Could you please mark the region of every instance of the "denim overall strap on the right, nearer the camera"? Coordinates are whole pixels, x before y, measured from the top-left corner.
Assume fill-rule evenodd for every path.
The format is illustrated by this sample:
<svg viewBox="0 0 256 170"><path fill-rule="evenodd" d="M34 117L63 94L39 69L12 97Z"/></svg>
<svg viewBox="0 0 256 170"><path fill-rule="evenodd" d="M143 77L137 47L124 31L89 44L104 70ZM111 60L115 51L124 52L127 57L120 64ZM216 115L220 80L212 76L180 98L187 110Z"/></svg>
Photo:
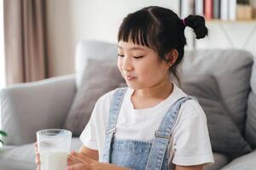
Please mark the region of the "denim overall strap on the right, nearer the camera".
<svg viewBox="0 0 256 170"><path fill-rule="evenodd" d="M166 154L166 149L172 135L174 124L177 120L177 115L180 106L188 99L195 99L192 96L178 99L167 111L163 117L160 127L154 133L154 141L148 156L147 170L160 170Z"/></svg>

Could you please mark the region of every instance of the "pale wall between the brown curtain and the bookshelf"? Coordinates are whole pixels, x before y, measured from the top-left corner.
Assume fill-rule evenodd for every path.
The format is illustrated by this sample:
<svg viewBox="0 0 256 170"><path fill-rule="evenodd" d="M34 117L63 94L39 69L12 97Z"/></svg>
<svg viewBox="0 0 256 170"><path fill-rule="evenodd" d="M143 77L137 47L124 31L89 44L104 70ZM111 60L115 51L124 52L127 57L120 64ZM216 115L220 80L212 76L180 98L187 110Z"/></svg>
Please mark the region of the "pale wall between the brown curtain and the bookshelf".
<svg viewBox="0 0 256 170"><path fill-rule="evenodd" d="M80 40L116 42L126 14L149 5L178 11L177 0L47 0L49 76L74 72L75 46Z"/></svg>

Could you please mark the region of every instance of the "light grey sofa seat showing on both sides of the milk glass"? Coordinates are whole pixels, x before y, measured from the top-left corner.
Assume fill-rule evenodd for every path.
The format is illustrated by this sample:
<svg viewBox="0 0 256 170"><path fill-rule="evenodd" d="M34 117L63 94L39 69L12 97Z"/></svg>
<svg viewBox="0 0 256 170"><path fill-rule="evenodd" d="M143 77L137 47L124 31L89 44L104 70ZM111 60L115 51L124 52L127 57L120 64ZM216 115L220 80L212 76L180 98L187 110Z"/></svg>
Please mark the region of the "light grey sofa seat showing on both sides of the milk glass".
<svg viewBox="0 0 256 170"><path fill-rule="evenodd" d="M71 150L78 151L82 143L79 138L73 138ZM1 170L35 170L34 143L20 146L4 146L0 148Z"/></svg>

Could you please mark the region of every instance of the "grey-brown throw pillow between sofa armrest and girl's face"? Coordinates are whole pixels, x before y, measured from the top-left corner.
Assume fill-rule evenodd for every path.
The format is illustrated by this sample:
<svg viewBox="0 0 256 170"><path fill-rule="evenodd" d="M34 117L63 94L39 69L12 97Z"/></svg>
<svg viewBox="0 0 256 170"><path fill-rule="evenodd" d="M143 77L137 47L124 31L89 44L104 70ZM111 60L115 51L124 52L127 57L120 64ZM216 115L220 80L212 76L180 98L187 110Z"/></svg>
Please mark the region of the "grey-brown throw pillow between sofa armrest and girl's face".
<svg viewBox="0 0 256 170"><path fill-rule="evenodd" d="M78 88L63 127L72 131L73 136L79 136L84 130L96 100L103 94L118 88L125 79L119 72L116 59L89 59L81 81L81 87Z"/></svg>

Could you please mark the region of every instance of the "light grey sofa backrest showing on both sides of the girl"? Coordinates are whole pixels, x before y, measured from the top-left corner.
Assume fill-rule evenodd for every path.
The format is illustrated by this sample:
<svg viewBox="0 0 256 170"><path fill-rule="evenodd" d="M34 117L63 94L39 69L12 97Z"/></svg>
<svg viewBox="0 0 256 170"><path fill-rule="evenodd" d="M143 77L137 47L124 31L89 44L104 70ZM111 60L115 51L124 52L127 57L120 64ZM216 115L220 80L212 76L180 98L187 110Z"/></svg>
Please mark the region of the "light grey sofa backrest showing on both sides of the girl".
<svg viewBox="0 0 256 170"><path fill-rule="evenodd" d="M79 42L75 62L77 87L80 86L87 59L116 59L117 54L117 45L114 43L92 40ZM229 110L237 127L243 132L252 65L253 55L247 51L205 49L185 51L180 69L183 78L197 77L203 74L216 77L224 105ZM255 83L255 80L253 81L251 80L251 84ZM255 85L253 86L255 88Z"/></svg>

